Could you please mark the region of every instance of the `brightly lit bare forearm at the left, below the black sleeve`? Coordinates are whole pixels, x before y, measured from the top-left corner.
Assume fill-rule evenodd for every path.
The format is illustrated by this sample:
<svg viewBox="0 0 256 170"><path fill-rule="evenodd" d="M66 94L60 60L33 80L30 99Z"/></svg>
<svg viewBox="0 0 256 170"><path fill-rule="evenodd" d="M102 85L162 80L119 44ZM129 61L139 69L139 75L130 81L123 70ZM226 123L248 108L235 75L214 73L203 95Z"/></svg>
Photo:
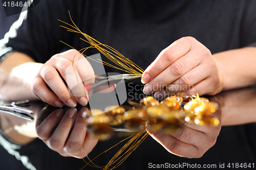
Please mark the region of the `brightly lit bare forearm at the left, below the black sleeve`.
<svg viewBox="0 0 256 170"><path fill-rule="evenodd" d="M41 68L23 53L13 53L0 64L0 94L4 100L35 100L31 83Z"/></svg>

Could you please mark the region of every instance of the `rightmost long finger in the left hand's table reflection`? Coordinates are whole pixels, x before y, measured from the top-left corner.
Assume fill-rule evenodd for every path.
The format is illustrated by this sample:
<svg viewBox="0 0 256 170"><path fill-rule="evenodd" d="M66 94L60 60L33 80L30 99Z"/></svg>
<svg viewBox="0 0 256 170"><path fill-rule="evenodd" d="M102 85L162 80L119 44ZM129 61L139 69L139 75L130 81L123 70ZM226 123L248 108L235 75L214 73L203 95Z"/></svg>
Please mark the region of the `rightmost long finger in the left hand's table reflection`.
<svg viewBox="0 0 256 170"><path fill-rule="evenodd" d="M77 153L82 148L84 137L86 136L87 132L87 121L86 117L84 116L84 112L86 111L88 111L88 109L83 107L78 112L74 128L72 129L67 143L65 144L65 148L68 153Z"/></svg>

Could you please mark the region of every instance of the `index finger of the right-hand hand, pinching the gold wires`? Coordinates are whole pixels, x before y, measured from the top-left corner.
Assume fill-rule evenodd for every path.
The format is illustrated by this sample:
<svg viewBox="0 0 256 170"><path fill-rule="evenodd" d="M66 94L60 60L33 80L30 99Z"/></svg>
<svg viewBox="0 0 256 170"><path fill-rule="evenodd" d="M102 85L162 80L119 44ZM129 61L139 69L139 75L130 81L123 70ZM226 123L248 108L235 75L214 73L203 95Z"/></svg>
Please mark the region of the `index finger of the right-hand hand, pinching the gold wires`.
<svg viewBox="0 0 256 170"><path fill-rule="evenodd" d="M193 43L191 43L193 39L191 37L183 37L165 48L143 72L141 81L143 83L150 82L170 64L187 54L193 48Z"/></svg>

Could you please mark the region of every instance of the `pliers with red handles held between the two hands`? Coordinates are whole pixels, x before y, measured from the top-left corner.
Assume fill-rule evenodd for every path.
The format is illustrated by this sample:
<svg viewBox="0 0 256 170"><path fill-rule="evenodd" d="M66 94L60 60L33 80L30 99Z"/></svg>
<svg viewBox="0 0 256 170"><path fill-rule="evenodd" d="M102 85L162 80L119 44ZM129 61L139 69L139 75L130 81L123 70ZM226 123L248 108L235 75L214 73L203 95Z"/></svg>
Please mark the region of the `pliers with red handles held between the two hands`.
<svg viewBox="0 0 256 170"><path fill-rule="evenodd" d="M131 75L131 74L120 74L120 75L113 75L109 77L100 77L95 76L95 81L97 83L86 85L87 91L92 91L93 89L100 87L102 85L110 85L110 84L117 84L121 80L124 80L124 82L129 82L135 79L140 78L140 76Z"/></svg>

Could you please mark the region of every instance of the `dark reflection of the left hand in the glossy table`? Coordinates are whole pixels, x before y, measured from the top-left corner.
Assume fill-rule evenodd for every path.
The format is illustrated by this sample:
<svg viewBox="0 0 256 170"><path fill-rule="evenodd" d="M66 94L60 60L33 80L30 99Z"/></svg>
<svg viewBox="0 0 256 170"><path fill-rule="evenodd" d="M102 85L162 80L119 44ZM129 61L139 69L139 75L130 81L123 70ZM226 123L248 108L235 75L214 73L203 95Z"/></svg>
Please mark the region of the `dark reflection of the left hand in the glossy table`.
<svg viewBox="0 0 256 170"><path fill-rule="evenodd" d="M62 156L76 158L86 157L95 147L98 139L92 138L86 130L86 118L82 108L79 113L75 108L69 109L63 115L63 110L55 110L47 118L41 114L36 120L36 133L47 146ZM86 153L83 151L86 150Z"/></svg>

